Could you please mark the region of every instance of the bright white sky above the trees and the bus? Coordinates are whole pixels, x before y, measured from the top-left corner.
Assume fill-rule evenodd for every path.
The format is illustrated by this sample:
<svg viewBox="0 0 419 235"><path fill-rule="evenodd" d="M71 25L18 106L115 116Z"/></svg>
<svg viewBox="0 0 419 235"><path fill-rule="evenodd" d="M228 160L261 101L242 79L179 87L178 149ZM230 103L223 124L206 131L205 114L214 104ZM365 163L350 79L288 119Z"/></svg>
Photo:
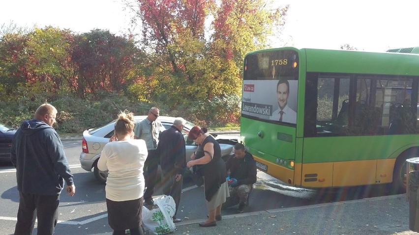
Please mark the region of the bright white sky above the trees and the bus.
<svg viewBox="0 0 419 235"><path fill-rule="evenodd" d="M275 0L289 4L282 40L270 47L385 52L419 46L419 1L416 0ZM133 13L122 0L7 0L1 3L0 26L57 26L73 32L109 29L127 32Z"/></svg>

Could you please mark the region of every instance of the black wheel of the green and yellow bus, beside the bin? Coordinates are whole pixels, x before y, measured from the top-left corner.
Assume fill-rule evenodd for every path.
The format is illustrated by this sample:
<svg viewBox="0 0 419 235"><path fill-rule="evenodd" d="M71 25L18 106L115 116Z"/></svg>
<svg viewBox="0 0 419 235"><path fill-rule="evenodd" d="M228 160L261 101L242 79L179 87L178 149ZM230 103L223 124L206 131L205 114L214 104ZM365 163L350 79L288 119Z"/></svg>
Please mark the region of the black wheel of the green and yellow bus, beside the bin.
<svg viewBox="0 0 419 235"><path fill-rule="evenodd" d="M393 182L391 183L389 194L400 194L406 192L406 159L407 155L397 158L393 170Z"/></svg>

